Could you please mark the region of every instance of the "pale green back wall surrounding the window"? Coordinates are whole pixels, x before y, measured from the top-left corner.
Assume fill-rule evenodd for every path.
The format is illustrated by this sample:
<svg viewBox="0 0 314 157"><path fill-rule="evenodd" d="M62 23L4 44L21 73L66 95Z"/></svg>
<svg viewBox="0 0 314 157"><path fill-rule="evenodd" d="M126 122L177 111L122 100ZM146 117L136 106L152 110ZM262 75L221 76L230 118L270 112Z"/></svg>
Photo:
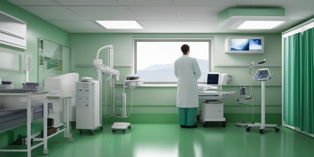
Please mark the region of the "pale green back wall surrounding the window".
<svg viewBox="0 0 314 157"><path fill-rule="evenodd" d="M265 52L264 54L227 54L225 53L225 39L228 36L264 36ZM97 79L97 73L94 72L93 67L78 67L76 64L93 64L93 59L96 58L97 51L100 47L106 45L113 45L113 64L132 64L133 55L133 38L138 37L159 37L159 38L213 38L214 41L214 71L220 73L231 74L231 82L223 86L223 91L236 91L236 95L225 98L224 113L238 114L242 113L242 104L239 104L237 98L239 97L239 84L250 84L249 64L263 61L267 59L267 63L261 64L264 67L255 67L251 69L254 76L257 69L269 68L270 73L273 73L272 79L266 84L266 113L281 114L281 34L188 34L188 33L173 33L173 34L154 34L154 33L108 33L108 34L93 34L93 33L71 33L70 46L73 48L73 72L79 73L79 77L88 76ZM160 47L160 50L166 47ZM107 64L107 49L100 52L100 59L103 59L103 64ZM156 54L152 54L153 56ZM166 57L166 56L165 56ZM228 66L231 65L231 66ZM131 67L114 67L119 70L121 77L116 84L123 84L126 79L126 74L132 73ZM252 80L253 84L253 100L254 112L260 113L261 106L261 83ZM123 90L122 87L117 86L115 91L115 98ZM247 87L249 92L249 87ZM103 93L104 94L104 93ZM131 93L127 92L127 114L131 109ZM105 99L103 98L103 101ZM103 102L104 103L104 102ZM111 104L108 104L110 108ZM119 114L121 104L116 104L116 113ZM154 87L154 86L140 86L133 89L133 113L177 113L176 106L176 87ZM107 113L109 109L107 107ZM252 113L252 106L246 106L246 112ZM280 117L280 115L279 115ZM241 121L238 119L238 121ZM280 120L279 120L280 121Z"/></svg>

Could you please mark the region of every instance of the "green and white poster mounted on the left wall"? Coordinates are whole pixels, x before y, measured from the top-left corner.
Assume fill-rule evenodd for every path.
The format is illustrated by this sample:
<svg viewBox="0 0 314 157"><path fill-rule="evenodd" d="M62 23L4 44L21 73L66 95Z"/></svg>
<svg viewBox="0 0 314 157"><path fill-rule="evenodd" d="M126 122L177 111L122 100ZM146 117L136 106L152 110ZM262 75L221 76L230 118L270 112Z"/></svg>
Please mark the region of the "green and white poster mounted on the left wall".
<svg viewBox="0 0 314 157"><path fill-rule="evenodd" d="M62 45L39 39L39 72L62 74Z"/></svg>

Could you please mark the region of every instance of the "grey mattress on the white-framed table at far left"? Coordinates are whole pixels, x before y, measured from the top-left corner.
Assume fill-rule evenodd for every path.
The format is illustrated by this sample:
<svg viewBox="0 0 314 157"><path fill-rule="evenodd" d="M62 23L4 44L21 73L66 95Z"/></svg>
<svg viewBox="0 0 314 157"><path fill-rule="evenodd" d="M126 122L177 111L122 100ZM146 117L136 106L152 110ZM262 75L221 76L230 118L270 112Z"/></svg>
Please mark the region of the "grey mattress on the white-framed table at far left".
<svg viewBox="0 0 314 157"><path fill-rule="evenodd" d="M48 108L52 108L52 103L48 103ZM43 103L33 104L31 106L33 119L44 115ZM4 109L0 110L0 130L14 127L27 122L27 109Z"/></svg>

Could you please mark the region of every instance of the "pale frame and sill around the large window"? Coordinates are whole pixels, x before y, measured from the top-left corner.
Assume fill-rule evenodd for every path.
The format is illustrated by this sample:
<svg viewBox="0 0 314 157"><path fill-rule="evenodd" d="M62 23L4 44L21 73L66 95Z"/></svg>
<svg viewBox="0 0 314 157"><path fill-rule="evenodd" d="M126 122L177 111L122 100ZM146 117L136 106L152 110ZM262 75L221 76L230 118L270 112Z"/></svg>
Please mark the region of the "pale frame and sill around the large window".
<svg viewBox="0 0 314 157"><path fill-rule="evenodd" d="M132 73L137 72L137 42L208 42L208 71L213 71L213 39L212 37L206 38L133 38L133 67ZM149 81L144 84L154 84L158 86L169 86L170 84L176 84L177 81Z"/></svg>

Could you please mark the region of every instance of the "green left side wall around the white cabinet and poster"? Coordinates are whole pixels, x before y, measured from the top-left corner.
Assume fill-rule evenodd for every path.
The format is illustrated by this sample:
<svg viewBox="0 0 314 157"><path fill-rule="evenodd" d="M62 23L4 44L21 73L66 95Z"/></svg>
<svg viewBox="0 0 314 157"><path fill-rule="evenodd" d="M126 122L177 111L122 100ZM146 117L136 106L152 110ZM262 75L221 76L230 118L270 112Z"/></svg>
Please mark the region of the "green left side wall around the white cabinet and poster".
<svg viewBox="0 0 314 157"><path fill-rule="evenodd" d="M6 14L14 16L24 22L26 22L26 37L27 37L27 56L33 57L33 71L29 72L29 82L40 82L43 80L37 80L38 78L38 38L44 38L49 41L56 42L58 44L68 46L70 45L70 33L65 30L56 27L53 24L19 8L12 3L5 0L0 0L0 10ZM68 52L70 53L70 52ZM70 72L70 54L65 55L65 67L67 73ZM25 82L25 68L24 68L24 50L14 48L12 46L6 46L0 44L1 58L12 59L10 62L18 64L12 68L8 68L7 65L0 64L0 77L2 80L12 80L14 82L14 88L22 88L22 83ZM68 61L67 61L68 60Z"/></svg>

